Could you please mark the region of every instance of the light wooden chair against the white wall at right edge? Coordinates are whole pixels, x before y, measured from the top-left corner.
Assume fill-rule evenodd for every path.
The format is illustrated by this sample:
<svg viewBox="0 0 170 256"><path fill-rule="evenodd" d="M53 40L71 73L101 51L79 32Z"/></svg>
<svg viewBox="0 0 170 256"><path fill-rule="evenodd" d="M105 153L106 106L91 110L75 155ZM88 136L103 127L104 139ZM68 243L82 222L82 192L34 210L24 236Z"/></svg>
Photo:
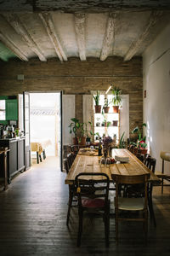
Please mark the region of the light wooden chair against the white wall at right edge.
<svg viewBox="0 0 170 256"><path fill-rule="evenodd" d="M161 178L161 194L163 194L163 187L170 186L170 184L164 183L164 180L170 182L170 172L167 174L164 172L165 161L170 161L170 152L161 151L160 154L162 160L161 172L156 172L156 176Z"/></svg>

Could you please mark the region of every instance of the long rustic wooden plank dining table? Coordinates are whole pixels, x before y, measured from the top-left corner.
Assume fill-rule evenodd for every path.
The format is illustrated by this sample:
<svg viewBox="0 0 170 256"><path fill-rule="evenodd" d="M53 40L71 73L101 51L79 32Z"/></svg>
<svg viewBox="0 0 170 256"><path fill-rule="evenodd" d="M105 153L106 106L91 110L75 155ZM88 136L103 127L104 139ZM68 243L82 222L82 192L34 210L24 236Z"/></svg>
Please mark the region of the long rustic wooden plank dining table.
<svg viewBox="0 0 170 256"><path fill-rule="evenodd" d="M97 155L97 152L81 152L77 154L74 160L70 172L65 178L65 184L73 184L75 182L75 177L80 172L104 172L106 173L111 183L113 183L113 177L115 175L141 175L150 173L149 178L149 189L148 189L148 206L150 210L150 218L154 220L156 225L156 218L154 214L153 204L152 204L152 186L153 184L160 183L160 179L150 171L150 169L145 166L134 154L128 151L126 148L114 148L111 152L111 157L115 159L115 156L128 157L127 162L116 161L114 164L108 166L100 164L101 156ZM93 179L96 177L86 177L88 179Z"/></svg>

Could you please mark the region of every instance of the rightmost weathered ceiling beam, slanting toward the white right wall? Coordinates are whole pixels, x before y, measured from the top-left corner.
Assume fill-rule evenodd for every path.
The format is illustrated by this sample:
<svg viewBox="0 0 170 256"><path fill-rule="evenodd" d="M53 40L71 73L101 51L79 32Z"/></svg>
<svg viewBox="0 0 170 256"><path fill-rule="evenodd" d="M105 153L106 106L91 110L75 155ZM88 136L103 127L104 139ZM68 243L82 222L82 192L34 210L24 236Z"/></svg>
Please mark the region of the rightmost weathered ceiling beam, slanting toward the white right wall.
<svg viewBox="0 0 170 256"><path fill-rule="evenodd" d="M138 40L133 42L130 48L127 51L127 54L124 56L124 61L130 61L133 56L139 51L141 45L144 44L146 39L150 36L150 30L156 25L156 22L159 20L162 11L152 11L150 14L150 19L147 22L147 25L144 28L144 32L139 36Z"/></svg>

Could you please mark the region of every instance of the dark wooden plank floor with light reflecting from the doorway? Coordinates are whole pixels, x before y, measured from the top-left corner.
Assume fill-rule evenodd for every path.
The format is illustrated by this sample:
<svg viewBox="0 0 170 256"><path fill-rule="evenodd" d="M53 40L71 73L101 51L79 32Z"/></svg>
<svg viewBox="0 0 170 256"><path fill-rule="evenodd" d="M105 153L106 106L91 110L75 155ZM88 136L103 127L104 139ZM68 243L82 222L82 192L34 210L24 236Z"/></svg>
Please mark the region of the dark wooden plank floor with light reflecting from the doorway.
<svg viewBox="0 0 170 256"><path fill-rule="evenodd" d="M56 158L47 158L15 177L8 190L0 192L0 255L170 255L169 189L161 195L161 189L154 188L157 227L149 221L147 245L142 224L122 223L116 246L111 218L110 247L106 248L104 225L97 218L85 220L82 246L77 248L77 208L67 229L67 201L65 173L59 172Z"/></svg>

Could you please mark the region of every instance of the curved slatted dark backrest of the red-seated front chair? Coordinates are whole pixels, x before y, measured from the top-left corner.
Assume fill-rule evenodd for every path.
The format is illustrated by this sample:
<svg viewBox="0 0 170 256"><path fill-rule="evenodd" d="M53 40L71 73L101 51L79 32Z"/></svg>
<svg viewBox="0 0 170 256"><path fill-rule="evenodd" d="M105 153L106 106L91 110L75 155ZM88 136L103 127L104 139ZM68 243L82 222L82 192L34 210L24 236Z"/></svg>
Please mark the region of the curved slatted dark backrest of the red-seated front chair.
<svg viewBox="0 0 170 256"><path fill-rule="evenodd" d="M102 172L81 172L75 178L79 206L83 198L103 198L108 203L110 178Z"/></svg>

